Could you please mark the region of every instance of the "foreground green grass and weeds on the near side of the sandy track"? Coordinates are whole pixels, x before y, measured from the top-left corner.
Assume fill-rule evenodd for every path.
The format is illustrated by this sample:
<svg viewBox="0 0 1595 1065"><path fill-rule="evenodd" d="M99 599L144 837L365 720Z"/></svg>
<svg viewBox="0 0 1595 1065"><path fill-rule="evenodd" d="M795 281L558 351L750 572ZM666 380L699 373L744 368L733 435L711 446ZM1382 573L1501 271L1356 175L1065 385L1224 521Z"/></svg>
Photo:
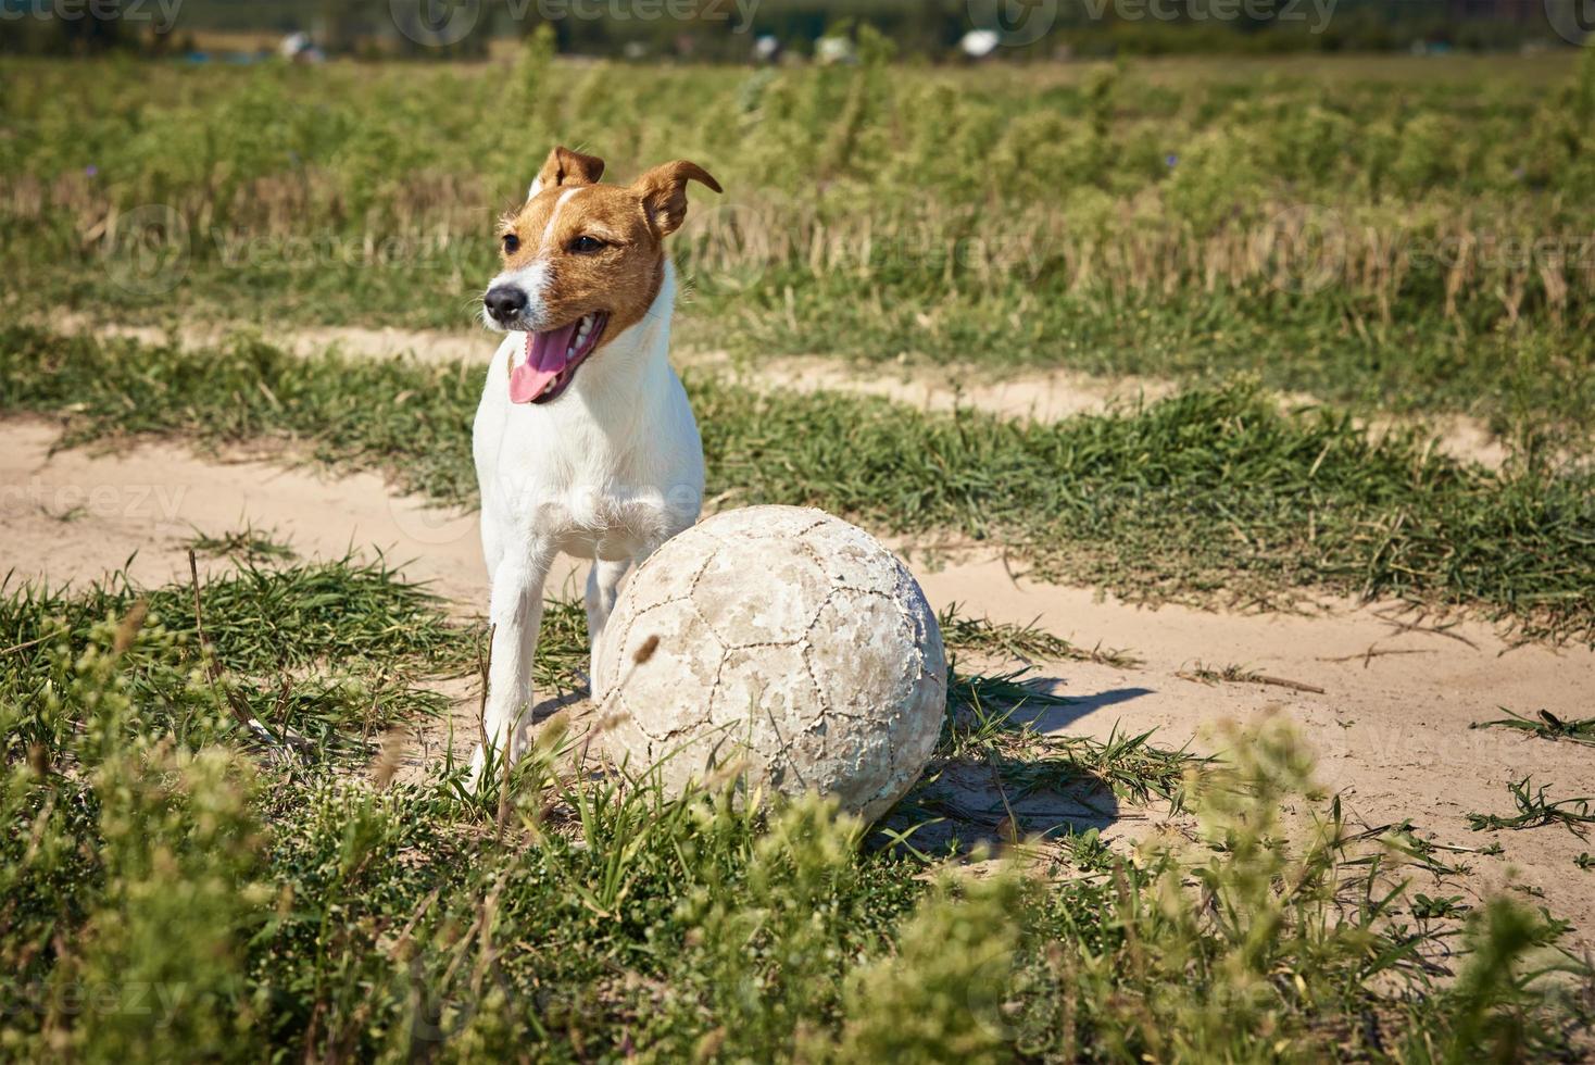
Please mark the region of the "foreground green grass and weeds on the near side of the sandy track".
<svg viewBox="0 0 1595 1065"><path fill-rule="evenodd" d="M496 827L440 767L376 788L241 754L190 595L0 598L11 636L67 628L0 657L8 1057L1571 1060L1589 1038L1565 926L1437 906L1443 877L1413 893L1278 727L1198 775L1145 737L1065 748L1118 802L1183 780L1198 831L1134 859L1086 834L970 875L860 847L818 802L573 775L574 738L538 745ZM255 635L263 604L282 620ZM265 687L292 681L289 636L412 679L474 643L351 561L246 568L204 611L230 681ZM1016 792L1057 773L1043 738L1002 743Z"/></svg>

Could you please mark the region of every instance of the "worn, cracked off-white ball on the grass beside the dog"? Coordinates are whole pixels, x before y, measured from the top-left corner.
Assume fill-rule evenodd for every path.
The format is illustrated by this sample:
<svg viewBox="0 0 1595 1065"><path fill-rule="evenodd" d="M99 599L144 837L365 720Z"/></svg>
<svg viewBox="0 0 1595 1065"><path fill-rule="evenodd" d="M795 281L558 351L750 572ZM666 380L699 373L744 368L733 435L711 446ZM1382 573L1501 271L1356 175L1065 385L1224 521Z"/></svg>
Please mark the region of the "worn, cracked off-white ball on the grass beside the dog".
<svg viewBox="0 0 1595 1065"><path fill-rule="evenodd" d="M930 759L947 663L925 593L823 510L697 525L627 582L598 646L601 743L671 794L817 791L874 819Z"/></svg>

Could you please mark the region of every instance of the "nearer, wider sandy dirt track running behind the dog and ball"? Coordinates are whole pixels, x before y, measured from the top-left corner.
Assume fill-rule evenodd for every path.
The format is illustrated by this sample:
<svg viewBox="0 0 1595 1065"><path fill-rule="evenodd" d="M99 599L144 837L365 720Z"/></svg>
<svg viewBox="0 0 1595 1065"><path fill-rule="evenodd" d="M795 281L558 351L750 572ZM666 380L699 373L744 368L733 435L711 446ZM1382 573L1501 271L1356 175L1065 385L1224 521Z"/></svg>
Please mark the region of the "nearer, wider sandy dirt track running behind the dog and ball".
<svg viewBox="0 0 1595 1065"><path fill-rule="evenodd" d="M330 478L258 458L201 458L167 443L51 454L56 438L43 421L0 421L0 569L11 571L13 582L81 584L124 563L142 582L185 580L196 529L222 534L252 525L303 556L381 552L461 612L486 604L474 515L394 496L375 475ZM1410 818L1423 834L1456 847L1499 840L1499 858L1450 855L1474 867L1471 890L1542 893L1552 912L1577 925L1577 942L1595 945L1595 872L1574 864L1595 845L1560 826L1480 834L1466 823L1471 812L1510 813L1506 786L1525 775L1549 784L1552 797L1595 792L1590 748L1469 729L1501 717L1499 706L1589 716L1595 652L1512 649L1474 622L1443 633L1413 627L1391 606L1330 603L1313 615L1150 611L1088 588L1014 579L1000 560L978 553L916 569L938 609L959 603L968 615L1038 620L1075 644L1128 649L1144 660L1136 668L1037 663L1037 676L1070 698L1048 708L1038 729L1099 738L1115 729L1156 729L1164 746L1190 741L1214 753L1217 722L1284 714L1317 751L1322 783L1343 796L1353 818ZM577 576L573 563L555 574L550 591L576 593ZM1198 663L1244 665L1324 694L1179 676ZM472 705L467 687L458 692L464 706ZM1110 835L1134 834L1128 824L1107 827Z"/></svg>

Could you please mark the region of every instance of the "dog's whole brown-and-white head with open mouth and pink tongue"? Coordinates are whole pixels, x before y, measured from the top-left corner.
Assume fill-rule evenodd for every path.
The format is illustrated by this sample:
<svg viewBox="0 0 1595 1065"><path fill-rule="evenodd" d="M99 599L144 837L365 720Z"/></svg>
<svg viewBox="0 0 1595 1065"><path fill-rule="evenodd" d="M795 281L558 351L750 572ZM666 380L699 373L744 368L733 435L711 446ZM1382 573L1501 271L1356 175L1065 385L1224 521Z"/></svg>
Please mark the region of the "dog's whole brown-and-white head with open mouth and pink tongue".
<svg viewBox="0 0 1595 1065"><path fill-rule="evenodd" d="M665 276L664 239L687 212L687 182L719 183L695 163L656 166L630 185L600 185L603 159L555 148L526 202L499 223L504 266L482 317L528 335L510 399L545 403L577 367L648 312Z"/></svg>

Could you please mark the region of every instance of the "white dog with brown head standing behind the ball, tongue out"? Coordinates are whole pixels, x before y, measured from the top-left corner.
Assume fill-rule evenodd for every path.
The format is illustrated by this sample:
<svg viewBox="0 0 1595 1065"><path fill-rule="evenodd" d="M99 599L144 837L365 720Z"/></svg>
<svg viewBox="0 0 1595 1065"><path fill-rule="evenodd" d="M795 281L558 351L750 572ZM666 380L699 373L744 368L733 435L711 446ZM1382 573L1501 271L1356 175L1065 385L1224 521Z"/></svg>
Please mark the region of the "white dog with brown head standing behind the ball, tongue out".
<svg viewBox="0 0 1595 1065"><path fill-rule="evenodd" d="M686 159L630 185L600 183L605 163L557 147L526 202L499 223L502 268L483 322L507 338L493 356L472 427L482 555L491 580L491 658L483 741L499 765L523 754L542 585L558 553L593 560L587 631L598 641L620 579L691 526L703 499L703 445L670 367L675 268L687 182L719 193ZM478 746L477 783L491 760Z"/></svg>

